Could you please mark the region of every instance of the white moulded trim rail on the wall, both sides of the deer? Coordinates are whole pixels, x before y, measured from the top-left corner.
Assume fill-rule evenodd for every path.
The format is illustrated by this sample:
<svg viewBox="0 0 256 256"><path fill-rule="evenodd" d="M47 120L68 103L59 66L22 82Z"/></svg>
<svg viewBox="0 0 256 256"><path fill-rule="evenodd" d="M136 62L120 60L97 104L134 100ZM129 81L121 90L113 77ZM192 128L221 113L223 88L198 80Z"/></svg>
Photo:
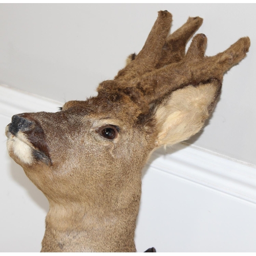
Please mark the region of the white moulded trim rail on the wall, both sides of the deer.
<svg viewBox="0 0 256 256"><path fill-rule="evenodd" d="M0 86L0 114L56 112L63 103ZM152 154L150 164L161 172L256 203L256 166L193 145L179 143Z"/></svg>

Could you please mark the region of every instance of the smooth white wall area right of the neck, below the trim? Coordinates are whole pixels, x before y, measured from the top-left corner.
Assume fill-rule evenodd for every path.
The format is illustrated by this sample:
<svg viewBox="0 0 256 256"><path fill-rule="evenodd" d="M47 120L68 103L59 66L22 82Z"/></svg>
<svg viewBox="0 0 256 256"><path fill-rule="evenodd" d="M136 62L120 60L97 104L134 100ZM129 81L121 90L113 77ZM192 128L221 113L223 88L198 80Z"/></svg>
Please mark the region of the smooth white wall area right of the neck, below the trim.
<svg viewBox="0 0 256 256"><path fill-rule="evenodd" d="M142 182L138 251L256 251L256 204L152 167Z"/></svg>

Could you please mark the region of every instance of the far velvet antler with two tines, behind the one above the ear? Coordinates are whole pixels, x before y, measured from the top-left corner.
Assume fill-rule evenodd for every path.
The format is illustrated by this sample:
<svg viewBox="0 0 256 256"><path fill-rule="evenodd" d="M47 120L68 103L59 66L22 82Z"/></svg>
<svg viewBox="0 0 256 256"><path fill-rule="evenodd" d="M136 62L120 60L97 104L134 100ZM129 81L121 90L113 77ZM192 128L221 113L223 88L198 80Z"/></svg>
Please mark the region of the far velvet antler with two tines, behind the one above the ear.
<svg viewBox="0 0 256 256"><path fill-rule="evenodd" d="M189 17L187 22L174 33L168 35L172 23L172 14L158 12L158 18L148 35L144 47L136 56L129 57L132 62L120 70L116 81L129 81L145 73L180 61L185 56L185 47L189 38L202 25L200 17Z"/></svg>

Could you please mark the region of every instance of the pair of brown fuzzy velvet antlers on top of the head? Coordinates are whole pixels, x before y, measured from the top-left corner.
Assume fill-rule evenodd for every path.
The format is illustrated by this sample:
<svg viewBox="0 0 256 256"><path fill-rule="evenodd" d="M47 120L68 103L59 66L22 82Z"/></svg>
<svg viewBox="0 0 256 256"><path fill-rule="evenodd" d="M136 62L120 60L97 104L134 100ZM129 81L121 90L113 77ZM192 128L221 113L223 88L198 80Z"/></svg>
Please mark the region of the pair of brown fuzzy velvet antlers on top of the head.
<svg viewBox="0 0 256 256"><path fill-rule="evenodd" d="M207 38L198 34L185 55L186 43L202 21L200 17L189 18L180 29L167 36L172 14L160 11L140 53L114 80L102 82L98 92L122 89L145 111L148 104L188 84L210 79L221 82L223 74L246 56L250 40L241 38L226 51L205 57Z"/></svg>

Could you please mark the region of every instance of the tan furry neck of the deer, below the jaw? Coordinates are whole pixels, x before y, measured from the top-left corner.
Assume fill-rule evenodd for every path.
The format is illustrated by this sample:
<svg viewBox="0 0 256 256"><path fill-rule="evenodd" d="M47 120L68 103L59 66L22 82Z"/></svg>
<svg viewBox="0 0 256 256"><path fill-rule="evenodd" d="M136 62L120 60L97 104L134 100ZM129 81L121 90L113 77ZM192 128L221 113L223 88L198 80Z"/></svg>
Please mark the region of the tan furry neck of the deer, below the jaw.
<svg viewBox="0 0 256 256"><path fill-rule="evenodd" d="M109 208L50 202L41 252L135 252L139 201L140 191L124 192Z"/></svg>

